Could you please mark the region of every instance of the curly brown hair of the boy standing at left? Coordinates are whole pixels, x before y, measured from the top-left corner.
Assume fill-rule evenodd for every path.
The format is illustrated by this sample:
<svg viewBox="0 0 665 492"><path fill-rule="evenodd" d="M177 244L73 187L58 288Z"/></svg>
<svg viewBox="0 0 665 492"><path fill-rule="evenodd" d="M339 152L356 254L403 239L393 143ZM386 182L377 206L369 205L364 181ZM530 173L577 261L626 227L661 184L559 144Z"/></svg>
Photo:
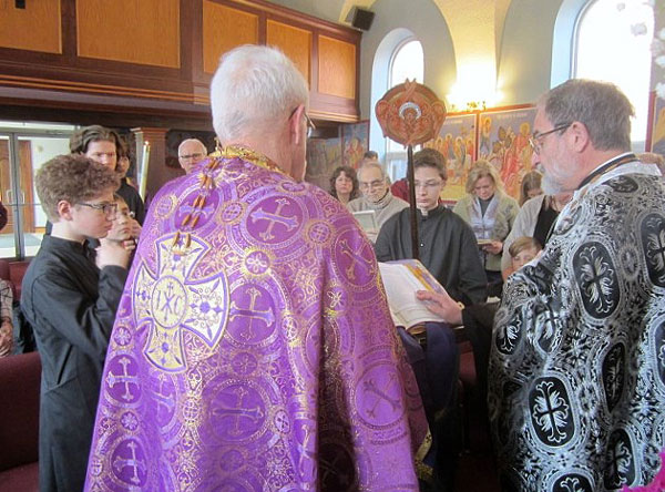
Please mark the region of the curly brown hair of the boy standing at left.
<svg viewBox="0 0 665 492"><path fill-rule="evenodd" d="M34 181L42 208L51 222L59 219L60 201L75 205L120 187L120 177L115 172L76 154L53 157L41 166Z"/></svg>

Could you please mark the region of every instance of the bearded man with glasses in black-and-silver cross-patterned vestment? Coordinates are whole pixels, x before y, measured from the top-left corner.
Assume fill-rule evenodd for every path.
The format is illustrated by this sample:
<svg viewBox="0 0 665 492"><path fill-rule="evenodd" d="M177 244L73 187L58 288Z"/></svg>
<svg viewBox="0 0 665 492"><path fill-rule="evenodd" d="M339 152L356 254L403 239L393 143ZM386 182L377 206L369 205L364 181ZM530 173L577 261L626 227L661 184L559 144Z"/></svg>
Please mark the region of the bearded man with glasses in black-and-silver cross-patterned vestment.
<svg viewBox="0 0 665 492"><path fill-rule="evenodd" d="M546 194L573 198L495 317L489 406L508 490L618 490L659 468L665 184L630 152L632 115L587 80L538 103L533 163Z"/></svg>

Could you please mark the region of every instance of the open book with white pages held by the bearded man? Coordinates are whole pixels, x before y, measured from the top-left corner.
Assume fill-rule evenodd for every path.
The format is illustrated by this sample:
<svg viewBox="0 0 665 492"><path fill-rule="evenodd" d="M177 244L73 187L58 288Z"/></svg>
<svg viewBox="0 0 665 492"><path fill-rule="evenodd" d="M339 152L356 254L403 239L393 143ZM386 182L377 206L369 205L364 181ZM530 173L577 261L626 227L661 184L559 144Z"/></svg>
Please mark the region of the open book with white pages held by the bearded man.
<svg viewBox="0 0 665 492"><path fill-rule="evenodd" d="M420 262L399 259L379 263L379 270L395 325L408 329L419 322L443 321L443 318L429 311L424 303L416 298L417 290L444 291Z"/></svg>

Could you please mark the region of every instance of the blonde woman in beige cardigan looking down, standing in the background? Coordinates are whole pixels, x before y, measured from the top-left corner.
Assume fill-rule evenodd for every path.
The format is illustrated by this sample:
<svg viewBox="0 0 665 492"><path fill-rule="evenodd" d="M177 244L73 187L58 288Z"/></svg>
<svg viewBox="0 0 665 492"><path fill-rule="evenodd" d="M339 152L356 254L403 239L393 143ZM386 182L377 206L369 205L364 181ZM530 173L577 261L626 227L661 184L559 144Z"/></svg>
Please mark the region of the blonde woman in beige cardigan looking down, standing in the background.
<svg viewBox="0 0 665 492"><path fill-rule="evenodd" d="M494 166L477 161L467 180L467 195L452 209L473 229L479 254L488 276L490 296L500 296L501 252L520 206L503 192L503 183Z"/></svg>

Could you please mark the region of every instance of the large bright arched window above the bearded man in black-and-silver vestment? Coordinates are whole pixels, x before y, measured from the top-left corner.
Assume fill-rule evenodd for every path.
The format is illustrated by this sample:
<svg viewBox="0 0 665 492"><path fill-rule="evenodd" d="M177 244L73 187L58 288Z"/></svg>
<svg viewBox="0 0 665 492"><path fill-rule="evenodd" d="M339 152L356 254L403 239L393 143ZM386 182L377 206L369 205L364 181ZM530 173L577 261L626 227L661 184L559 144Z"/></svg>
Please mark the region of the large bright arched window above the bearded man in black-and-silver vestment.
<svg viewBox="0 0 665 492"><path fill-rule="evenodd" d="M572 74L615 83L635 107L631 140L644 150L648 117L654 11L647 2L592 0L575 29Z"/></svg>

